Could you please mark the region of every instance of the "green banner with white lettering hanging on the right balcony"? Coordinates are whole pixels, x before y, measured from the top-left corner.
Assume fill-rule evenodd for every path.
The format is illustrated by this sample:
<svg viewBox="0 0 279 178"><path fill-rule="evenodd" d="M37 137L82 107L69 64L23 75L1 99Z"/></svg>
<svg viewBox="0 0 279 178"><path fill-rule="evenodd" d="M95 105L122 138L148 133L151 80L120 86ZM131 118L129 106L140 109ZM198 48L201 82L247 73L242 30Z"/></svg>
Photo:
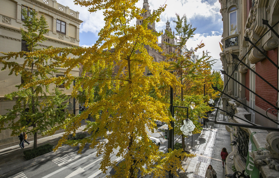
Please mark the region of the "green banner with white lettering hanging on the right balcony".
<svg viewBox="0 0 279 178"><path fill-rule="evenodd" d="M253 135L256 134L257 132L252 132L250 135L249 139L249 149L248 149L248 154L247 154L247 161L246 161L246 168L245 168L245 175L249 175L251 178L259 178L260 171L256 166L254 165L254 158L252 157L252 152L256 151L258 149L264 149L265 148L258 148L256 147L254 140L253 140Z"/></svg>

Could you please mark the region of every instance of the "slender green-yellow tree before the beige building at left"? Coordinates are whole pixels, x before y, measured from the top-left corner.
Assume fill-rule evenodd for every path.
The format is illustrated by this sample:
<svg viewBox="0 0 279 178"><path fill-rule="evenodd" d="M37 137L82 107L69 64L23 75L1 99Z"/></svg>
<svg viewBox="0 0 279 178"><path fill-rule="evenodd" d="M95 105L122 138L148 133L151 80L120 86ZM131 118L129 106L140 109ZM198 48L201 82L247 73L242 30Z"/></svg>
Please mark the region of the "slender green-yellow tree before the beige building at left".
<svg viewBox="0 0 279 178"><path fill-rule="evenodd" d="M16 85L17 91L6 94L8 100L15 99L15 105L8 113L0 115L0 131L11 129L11 136L17 136L21 132L34 135L34 148L37 148L37 134L61 124L65 120L66 113L62 112L66 105L62 105L68 97L58 88L49 91L49 84L38 84L42 79L48 79L53 72L58 72L56 67L61 65L57 53L40 53L37 43L45 41L44 34L48 32L45 17L35 10L22 9L25 29L21 28L22 40L26 41L27 51L9 52L0 56L3 64L2 70L9 70L9 75L15 74L21 77L21 84ZM49 49L51 49L50 47ZM54 50L55 51L55 50ZM57 107L58 106L58 107Z"/></svg>

